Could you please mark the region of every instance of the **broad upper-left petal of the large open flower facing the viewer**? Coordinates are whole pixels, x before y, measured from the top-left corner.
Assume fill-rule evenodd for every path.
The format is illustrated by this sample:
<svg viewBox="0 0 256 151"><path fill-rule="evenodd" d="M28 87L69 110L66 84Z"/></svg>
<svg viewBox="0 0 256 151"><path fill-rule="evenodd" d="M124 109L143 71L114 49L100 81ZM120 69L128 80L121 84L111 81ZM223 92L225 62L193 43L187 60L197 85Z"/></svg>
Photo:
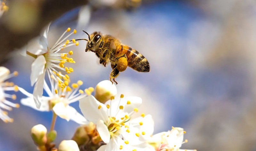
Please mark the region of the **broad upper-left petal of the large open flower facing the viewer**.
<svg viewBox="0 0 256 151"><path fill-rule="evenodd" d="M100 110L98 110L99 105L101 106ZM100 103L92 95L80 99L79 108L85 119L93 122L94 124L96 124L100 119L104 121L108 120L106 105Z"/></svg>

